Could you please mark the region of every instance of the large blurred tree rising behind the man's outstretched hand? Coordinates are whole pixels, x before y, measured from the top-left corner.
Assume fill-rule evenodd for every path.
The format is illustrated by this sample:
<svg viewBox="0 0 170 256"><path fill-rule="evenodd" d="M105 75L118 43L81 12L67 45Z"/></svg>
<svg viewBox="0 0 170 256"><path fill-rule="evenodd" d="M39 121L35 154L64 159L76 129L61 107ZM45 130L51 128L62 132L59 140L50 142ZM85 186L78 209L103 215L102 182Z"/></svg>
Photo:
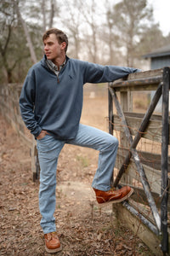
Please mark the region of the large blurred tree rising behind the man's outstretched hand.
<svg viewBox="0 0 170 256"><path fill-rule="evenodd" d="M127 66L133 66L139 38L152 18L153 10L147 7L146 0L122 0L113 7L113 27L119 37L119 44L125 49Z"/></svg>

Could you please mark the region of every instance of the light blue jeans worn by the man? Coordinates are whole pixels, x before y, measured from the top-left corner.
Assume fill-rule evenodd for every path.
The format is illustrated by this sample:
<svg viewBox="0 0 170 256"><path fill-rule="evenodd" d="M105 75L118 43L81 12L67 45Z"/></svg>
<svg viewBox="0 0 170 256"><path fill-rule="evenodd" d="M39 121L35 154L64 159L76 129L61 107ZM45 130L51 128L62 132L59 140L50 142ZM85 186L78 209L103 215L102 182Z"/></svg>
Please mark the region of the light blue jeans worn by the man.
<svg viewBox="0 0 170 256"><path fill-rule="evenodd" d="M59 153L65 143L99 150L98 169L92 186L103 191L111 189L111 177L118 148L116 137L88 125L79 125L77 137L71 141L56 140L49 135L37 140L41 168L39 208L42 214L41 226L44 234L56 230L54 218L56 170Z"/></svg>

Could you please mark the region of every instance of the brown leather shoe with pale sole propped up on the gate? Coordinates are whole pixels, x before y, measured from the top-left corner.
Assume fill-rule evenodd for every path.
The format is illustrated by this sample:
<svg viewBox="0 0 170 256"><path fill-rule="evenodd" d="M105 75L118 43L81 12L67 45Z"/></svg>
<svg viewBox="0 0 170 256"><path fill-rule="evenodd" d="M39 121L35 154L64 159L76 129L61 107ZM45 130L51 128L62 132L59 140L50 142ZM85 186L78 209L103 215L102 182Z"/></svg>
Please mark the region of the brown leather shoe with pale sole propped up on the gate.
<svg viewBox="0 0 170 256"><path fill-rule="evenodd" d="M99 204L111 204L118 203L126 200L130 195L133 194L133 189L128 186L122 187L122 189L102 191L94 189L96 200Z"/></svg>

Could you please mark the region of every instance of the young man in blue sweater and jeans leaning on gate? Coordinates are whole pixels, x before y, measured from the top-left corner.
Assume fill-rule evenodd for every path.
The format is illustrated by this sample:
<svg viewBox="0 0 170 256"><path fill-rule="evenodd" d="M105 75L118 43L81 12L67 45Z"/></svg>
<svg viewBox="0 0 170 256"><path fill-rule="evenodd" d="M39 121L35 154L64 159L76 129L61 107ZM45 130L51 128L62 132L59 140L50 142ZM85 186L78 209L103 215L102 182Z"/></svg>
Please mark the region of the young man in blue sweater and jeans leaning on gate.
<svg viewBox="0 0 170 256"><path fill-rule="evenodd" d="M65 143L99 150L99 166L92 184L99 204L120 202L133 193L128 186L111 190L118 148L116 137L79 121L83 84L111 82L138 69L70 59L66 55L68 38L59 29L49 29L42 41L45 55L27 74L20 95L20 112L37 139L41 226L47 252L55 253L61 250L54 219L56 169Z"/></svg>

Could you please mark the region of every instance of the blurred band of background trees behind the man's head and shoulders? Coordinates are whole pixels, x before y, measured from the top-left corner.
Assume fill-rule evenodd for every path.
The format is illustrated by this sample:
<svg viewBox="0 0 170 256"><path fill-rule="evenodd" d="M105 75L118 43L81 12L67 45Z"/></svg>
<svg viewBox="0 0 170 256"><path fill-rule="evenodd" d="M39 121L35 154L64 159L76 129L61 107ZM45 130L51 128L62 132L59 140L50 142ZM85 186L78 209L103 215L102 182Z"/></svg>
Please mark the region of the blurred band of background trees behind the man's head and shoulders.
<svg viewBox="0 0 170 256"><path fill-rule="evenodd" d="M0 83L23 82L42 58L42 33L49 27L67 33L72 58L143 69L141 56L170 39L146 0L2 0Z"/></svg>

